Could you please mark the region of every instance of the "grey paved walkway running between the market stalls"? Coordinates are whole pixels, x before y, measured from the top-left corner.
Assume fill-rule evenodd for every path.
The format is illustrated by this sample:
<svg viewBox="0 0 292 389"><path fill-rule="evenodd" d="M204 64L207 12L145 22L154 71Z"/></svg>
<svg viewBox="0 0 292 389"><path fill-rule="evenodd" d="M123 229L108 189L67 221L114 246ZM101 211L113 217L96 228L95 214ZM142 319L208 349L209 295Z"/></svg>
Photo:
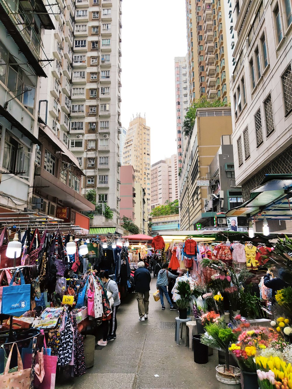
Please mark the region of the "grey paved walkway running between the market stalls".
<svg viewBox="0 0 292 389"><path fill-rule="evenodd" d="M208 364L196 364L193 352L178 346L174 341L175 317L165 301L161 310L160 301L155 302L152 293L156 290L152 279L149 316L139 321L135 293L129 294L118 310L117 338L106 347L96 343L94 366L86 374L74 378L70 385L82 389L189 389L218 387L215 366L218 354L209 357ZM183 330L184 337L185 329ZM101 336L100 336L101 337ZM100 339L97 337L97 340ZM154 377L157 374L159 377Z"/></svg>

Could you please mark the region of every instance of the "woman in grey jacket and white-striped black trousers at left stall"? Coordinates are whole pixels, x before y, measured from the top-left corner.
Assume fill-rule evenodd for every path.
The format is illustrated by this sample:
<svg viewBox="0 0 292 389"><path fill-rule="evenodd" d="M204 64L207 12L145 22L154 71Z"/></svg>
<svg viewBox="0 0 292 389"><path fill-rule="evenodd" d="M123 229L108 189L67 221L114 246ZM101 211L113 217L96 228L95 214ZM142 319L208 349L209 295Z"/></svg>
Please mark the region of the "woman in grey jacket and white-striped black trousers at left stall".
<svg viewBox="0 0 292 389"><path fill-rule="evenodd" d="M107 297L113 298L114 300L114 303L111 307L113 312L111 314L111 319L109 319L109 333L107 336L107 342L111 342L112 340L116 339L116 329L118 326L116 314L121 303L119 297L119 289L116 282L109 278L109 273L107 271L101 272L99 278L102 280L102 283L104 284L104 289L106 289L107 291Z"/></svg>

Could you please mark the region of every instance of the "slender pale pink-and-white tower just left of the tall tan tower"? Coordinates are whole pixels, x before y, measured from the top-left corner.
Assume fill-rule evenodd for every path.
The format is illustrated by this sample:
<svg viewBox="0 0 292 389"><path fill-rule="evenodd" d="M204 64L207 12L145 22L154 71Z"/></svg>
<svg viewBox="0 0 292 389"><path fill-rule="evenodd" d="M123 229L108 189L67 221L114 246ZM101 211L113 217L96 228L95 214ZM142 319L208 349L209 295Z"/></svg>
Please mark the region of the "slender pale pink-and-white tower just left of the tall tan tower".
<svg viewBox="0 0 292 389"><path fill-rule="evenodd" d="M183 121L188 112L188 78L186 57L174 58L175 93L176 93L176 144L178 147L178 167L181 167L181 159L185 137L183 135Z"/></svg>

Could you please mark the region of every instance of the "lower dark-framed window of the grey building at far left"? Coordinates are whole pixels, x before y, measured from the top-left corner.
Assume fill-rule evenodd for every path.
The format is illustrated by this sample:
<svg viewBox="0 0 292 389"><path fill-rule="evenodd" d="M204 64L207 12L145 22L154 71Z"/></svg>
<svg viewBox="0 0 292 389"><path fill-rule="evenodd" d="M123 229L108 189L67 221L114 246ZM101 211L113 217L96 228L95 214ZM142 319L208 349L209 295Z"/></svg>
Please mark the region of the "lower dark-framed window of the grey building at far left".
<svg viewBox="0 0 292 389"><path fill-rule="evenodd" d="M31 159L32 153L30 149L24 144L19 143L6 130L2 167L12 172L24 172L23 174L18 174L18 176L24 180L29 180Z"/></svg>

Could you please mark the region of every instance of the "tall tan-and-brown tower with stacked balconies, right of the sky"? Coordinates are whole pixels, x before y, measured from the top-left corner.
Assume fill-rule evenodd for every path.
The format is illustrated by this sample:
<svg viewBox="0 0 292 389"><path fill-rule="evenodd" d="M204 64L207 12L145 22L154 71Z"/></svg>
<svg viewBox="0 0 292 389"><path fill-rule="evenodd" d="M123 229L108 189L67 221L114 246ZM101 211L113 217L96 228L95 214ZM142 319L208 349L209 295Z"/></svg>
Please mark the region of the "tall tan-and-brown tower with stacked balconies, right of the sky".
<svg viewBox="0 0 292 389"><path fill-rule="evenodd" d="M201 96L229 102L229 57L234 43L232 0L186 0L189 101ZM231 35L231 39L229 37ZM229 54L229 55L228 55Z"/></svg>

